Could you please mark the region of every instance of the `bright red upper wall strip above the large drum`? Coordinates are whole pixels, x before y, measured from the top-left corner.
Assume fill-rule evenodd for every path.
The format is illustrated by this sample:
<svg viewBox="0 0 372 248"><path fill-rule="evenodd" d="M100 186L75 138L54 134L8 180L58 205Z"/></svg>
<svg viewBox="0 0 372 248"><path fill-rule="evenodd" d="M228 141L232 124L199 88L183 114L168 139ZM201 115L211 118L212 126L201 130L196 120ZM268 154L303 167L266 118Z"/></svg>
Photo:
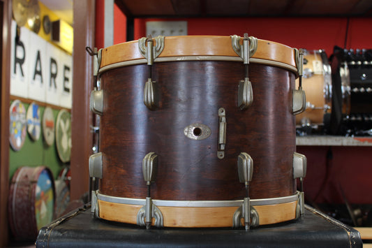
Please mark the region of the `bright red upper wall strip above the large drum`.
<svg viewBox="0 0 372 248"><path fill-rule="evenodd" d="M135 20L135 39L146 36L146 22ZM189 18L188 35L230 36L237 34L275 41L292 48L325 49L332 54L334 45L343 48L347 18ZM350 18L346 48L372 48L372 18Z"/></svg>

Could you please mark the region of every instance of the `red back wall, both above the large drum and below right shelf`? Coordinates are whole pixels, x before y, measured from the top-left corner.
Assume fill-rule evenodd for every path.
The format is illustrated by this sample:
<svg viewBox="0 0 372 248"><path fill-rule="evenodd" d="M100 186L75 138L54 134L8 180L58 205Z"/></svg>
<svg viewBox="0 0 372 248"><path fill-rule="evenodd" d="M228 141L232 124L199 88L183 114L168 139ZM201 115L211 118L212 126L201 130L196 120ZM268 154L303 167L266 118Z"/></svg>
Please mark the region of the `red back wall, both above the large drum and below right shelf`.
<svg viewBox="0 0 372 248"><path fill-rule="evenodd" d="M115 19L121 18L115 13ZM134 38L146 34L148 21L187 21L188 35L237 34L275 41L293 48L323 49L328 57L335 45L343 48L372 48L371 17L224 17L224 18L136 18ZM101 22L102 23L102 22ZM114 22L115 33L125 22ZM348 36L345 37L348 26ZM96 29L101 29L97 22ZM97 38L97 37L96 37ZM98 37L99 39L102 37ZM114 41L120 43L123 41ZM100 43L98 43L99 45ZM103 44L103 43L102 43ZM197 44L195 44L197 45ZM297 147L308 159L304 180L308 200L316 203L372 203L372 147ZM329 156L332 154L332 156Z"/></svg>

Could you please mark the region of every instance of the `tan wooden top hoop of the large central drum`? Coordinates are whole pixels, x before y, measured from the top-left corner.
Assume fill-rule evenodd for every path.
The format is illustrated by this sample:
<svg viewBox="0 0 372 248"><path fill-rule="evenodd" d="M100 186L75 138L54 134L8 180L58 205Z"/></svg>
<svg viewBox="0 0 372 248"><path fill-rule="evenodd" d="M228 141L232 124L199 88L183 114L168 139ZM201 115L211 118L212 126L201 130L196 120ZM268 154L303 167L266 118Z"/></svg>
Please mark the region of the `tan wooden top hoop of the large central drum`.
<svg viewBox="0 0 372 248"><path fill-rule="evenodd" d="M242 43L241 38L240 43ZM250 61L287 68L297 73L295 51L280 43L258 39L257 51ZM186 60L232 60L241 61L232 48L232 38L228 36L170 36L165 37L163 50L155 61ZM137 41L112 45L101 50L99 72L134 64L146 64Z"/></svg>

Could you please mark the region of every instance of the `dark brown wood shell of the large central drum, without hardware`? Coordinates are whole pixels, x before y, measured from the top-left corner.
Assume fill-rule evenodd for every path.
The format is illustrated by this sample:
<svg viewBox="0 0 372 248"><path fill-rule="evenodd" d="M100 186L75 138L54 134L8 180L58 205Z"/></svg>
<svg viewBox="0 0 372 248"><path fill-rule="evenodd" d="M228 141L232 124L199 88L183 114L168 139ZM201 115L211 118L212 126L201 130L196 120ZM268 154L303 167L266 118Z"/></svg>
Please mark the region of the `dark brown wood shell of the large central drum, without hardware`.
<svg viewBox="0 0 372 248"><path fill-rule="evenodd" d="M244 65L232 61L179 61L155 63L152 78L159 107L143 103L147 65L126 66L101 75L104 97L101 117L103 179L100 191L109 196L145 198L142 159L158 154L158 175L151 197L160 200L235 200L245 196L239 182L237 156L254 161L251 198L295 194L292 159L295 117L292 89L295 74L283 68L250 64L253 104L237 107ZM227 120L225 159L216 156L218 108ZM191 140L189 124L209 126L211 136Z"/></svg>

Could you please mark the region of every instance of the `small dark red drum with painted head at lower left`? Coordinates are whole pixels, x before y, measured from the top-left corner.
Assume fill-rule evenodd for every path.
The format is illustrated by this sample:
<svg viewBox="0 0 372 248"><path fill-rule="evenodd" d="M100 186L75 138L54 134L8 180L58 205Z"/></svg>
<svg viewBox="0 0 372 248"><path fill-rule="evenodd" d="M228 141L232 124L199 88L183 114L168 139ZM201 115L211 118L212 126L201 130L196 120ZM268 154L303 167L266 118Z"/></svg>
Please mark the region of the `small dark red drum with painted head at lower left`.
<svg viewBox="0 0 372 248"><path fill-rule="evenodd" d="M54 218L54 179L45 166L17 169L10 183L8 213L17 240L35 240L38 231Z"/></svg>

